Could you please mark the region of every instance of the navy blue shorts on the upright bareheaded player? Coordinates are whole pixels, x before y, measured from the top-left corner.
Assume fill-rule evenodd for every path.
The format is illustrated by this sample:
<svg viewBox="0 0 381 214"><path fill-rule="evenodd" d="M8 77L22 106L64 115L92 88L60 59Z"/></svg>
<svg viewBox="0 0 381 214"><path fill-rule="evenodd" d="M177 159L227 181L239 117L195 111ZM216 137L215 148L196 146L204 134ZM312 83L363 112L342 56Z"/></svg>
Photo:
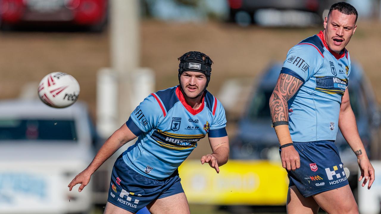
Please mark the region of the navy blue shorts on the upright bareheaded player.
<svg viewBox="0 0 381 214"><path fill-rule="evenodd" d="M348 184L339 151L333 141L294 142L300 168L288 171L289 187L296 186L304 197Z"/></svg>

